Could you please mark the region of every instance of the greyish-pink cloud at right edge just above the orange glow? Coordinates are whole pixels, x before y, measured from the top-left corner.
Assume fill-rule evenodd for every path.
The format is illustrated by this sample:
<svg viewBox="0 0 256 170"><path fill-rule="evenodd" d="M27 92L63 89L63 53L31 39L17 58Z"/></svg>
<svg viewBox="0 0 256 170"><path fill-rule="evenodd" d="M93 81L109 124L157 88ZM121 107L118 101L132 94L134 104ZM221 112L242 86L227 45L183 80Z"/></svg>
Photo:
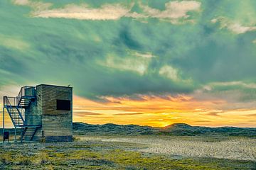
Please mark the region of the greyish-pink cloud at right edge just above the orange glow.
<svg viewBox="0 0 256 170"><path fill-rule="evenodd" d="M191 94L195 100L223 100L218 109L223 111L255 109L255 83L243 81L214 82Z"/></svg>

